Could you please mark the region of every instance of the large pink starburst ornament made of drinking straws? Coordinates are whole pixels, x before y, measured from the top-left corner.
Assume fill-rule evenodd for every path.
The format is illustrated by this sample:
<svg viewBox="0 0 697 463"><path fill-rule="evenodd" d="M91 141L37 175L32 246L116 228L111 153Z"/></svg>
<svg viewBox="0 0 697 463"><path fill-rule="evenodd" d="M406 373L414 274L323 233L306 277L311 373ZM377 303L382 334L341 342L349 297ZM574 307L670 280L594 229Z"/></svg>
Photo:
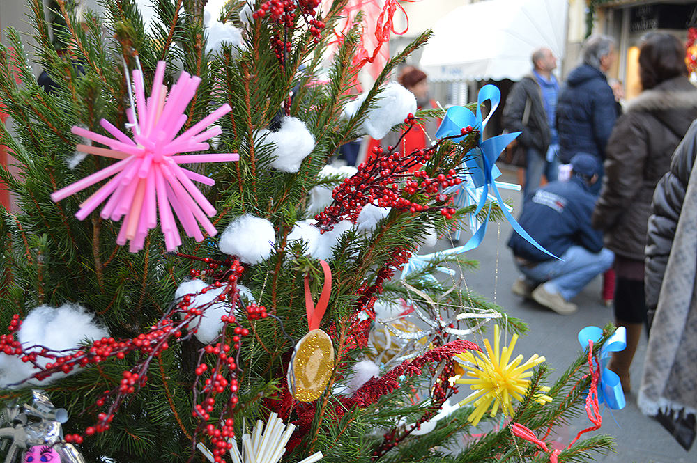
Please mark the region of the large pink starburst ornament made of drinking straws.
<svg viewBox="0 0 697 463"><path fill-rule="evenodd" d="M167 86L162 84L163 77L164 61L159 61L153 89L146 100L143 74L140 70L133 71L137 112L133 108L126 111L133 127L133 139L105 119L100 120L100 124L114 136L113 139L72 126L72 133L109 147L77 145L77 150L120 160L51 195L53 201L61 201L113 175L111 180L80 205L75 217L84 220L106 201L100 216L114 221L123 217L116 243L123 246L130 240L130 252L143 249L148 230L158 224L158 213L167 251L172 251L181 244L174 214L186 235L194 240L204 239L199 224L208 235L215 235L217 230L208 220L208 217L215 214L215 207L201 194L192 180L206 185L215 185L215 182L204 175L188 171L179 164L239 159L237 153L180 154L210 149L204 141L220 135L222 130L217 126L208 130L206 128L229 113L231 107L229 104L222 105L183 134L176 136L186 123L184 110L194 97L201 79L182 72L168 96Z"/></svg>

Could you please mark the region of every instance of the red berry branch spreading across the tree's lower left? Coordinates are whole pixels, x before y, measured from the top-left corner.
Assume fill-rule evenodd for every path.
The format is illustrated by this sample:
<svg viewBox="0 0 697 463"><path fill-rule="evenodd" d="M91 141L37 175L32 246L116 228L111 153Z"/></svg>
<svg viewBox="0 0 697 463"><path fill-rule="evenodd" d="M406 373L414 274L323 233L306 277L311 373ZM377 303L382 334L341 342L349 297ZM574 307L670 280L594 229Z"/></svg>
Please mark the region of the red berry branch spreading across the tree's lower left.
<svg viewBox="0 0 697 463"><path fill-rule="evenodd" d="M206 262L208 269L204 273L213 278L213 283L199 293L182 297L146 333L131 339L102 338L93 341L91 345L73 350L54 351L40 345L24 347L15 339L15 333L22 326L20 316L15 314L8 327L10 334L0 336L0 351L7 355L18 356L22 361L32 363L36 368L36 373L22 382L30 379L47 379L59 373L68 374L75 368L97 365L114 358L123 359L127 354L139 354L139 361L122 373L118 387L104 391L96 400L94 407L104 407L107 403L109 407L98 414L94 425L84 430L84 435L91 436L109 430L118 408L129 396L146 385L148 370L153 359L167 350L169 343L181 342L193 336L201 324L202 315L214 304L227 301L230 309L227 315L221 317L222 332L199 351L198 366L195 370L196 379L192 386L194 393L192 414L199 420L199 426L194 432L194 445L197 434L204 432L213 443L216 461L222 461L221 455L229 449L228 438L233 436L233 421L230 414L238 402L236 392L240 343L242 338L249 334L249 330L237 322L233 311L238 308L239 312L245 314L247 318L256 320L265 318L266 308L250 304L245 309L241 304L237 281L244 267L237 260L220 262L178 253L175 255ZM201 271L194 269L191 274L192 277L197 278L201 275ZM223 290L213 301L196 304L197 296L217 288L223 288ZM205 360L204 356L206 356ZM216 407L220 398L223 398L224 403L222 407ZM220 409L217 416L212 415L215 409ZM67 434L65 440L79 444L83 441L83 436Z"/></svg>

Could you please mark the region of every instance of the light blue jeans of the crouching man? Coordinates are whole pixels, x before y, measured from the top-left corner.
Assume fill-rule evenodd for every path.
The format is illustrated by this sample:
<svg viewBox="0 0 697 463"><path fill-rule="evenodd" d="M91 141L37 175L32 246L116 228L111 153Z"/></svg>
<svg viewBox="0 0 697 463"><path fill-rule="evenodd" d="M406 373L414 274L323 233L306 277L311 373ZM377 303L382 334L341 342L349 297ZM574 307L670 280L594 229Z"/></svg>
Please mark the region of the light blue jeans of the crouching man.
<svg viewBox="0 0 697 463"><path fill-rule="evenodd" d="M549 292L559 292L567 301L579 294L585 285L612 267L615 254L609 249L592 253L583 246L571 246L560 256L563 260L551 259L539 262L535 267L518 269L528 283L544 283Z"/></svg>

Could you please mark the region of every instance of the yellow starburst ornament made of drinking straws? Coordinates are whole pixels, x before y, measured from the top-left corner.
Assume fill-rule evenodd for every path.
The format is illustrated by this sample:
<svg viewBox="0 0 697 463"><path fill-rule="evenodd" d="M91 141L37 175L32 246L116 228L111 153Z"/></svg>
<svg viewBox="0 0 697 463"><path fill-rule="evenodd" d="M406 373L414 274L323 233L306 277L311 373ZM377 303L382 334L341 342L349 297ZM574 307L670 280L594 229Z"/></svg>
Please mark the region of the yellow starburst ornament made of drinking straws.
<svg viewBox="0 0 697 463"><path fill-rule="evenodd" d="M499 355L500 331L498 324L494 325L493 330L493 350L489 340L484 339L486 353L467 351L457 355L461 361L468 364L464 365L466 377L455 379L455 382L470 384L470 389L473 390L473 393L460 401L460 405L474 402L475 410L467 419L475 426L480 422L492 402L491 416L496 416L499 407L503 409L505 414L512 416L512 400L522 400L530 385L530 380L526 379L533 375L530 368L544 362L544 357L537 354L531 356L523 364L521 364L522 354L510 361L513 347L518 340L517 334L513 335L511 343L507 347L503 347ZM477 356L474 355L475 353ZM549 387L540 386L539 391L549 392ZM549 395L537 393L535 400L544 404L544 402L551 402L552 398Z"/></svg>

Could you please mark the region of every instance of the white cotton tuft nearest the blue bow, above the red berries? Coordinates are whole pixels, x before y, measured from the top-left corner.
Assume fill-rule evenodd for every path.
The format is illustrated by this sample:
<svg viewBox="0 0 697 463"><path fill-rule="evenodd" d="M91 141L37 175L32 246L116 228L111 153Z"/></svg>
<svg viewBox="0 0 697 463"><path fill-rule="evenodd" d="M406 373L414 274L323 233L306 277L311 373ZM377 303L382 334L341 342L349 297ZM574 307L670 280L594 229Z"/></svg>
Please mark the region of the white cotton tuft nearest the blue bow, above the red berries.
<svg viewBox="0 0 697 463"><path fill-rule="evenodd" d="M344 116L353 116L366 97L367 93L364 93L356 100L346 104ZM373 109L368 111L363 120L361 130L374 139L379 140L387 135L392 130L392 127L404 122L409 113L413 114L415 112L416 97L414 94L397 84L397 82L390 82L378 94Z"/></svg>

